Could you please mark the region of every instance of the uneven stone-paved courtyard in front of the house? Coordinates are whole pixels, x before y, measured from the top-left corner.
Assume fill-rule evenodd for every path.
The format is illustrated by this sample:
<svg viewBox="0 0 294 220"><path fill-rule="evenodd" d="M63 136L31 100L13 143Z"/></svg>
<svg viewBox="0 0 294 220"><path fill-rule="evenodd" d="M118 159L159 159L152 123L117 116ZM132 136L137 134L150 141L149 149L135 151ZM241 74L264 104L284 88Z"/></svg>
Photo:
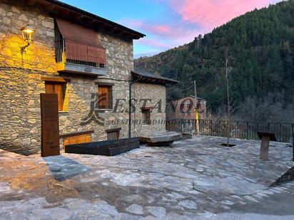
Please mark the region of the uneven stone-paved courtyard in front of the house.
<svg viewBox="0 0 294 220"><path fill-rule="evenodd" d="M0 219L293 219L292 148L194 137L118 155L41 158L0 151ZM276 204L275 204L276 202Z"/></svg>

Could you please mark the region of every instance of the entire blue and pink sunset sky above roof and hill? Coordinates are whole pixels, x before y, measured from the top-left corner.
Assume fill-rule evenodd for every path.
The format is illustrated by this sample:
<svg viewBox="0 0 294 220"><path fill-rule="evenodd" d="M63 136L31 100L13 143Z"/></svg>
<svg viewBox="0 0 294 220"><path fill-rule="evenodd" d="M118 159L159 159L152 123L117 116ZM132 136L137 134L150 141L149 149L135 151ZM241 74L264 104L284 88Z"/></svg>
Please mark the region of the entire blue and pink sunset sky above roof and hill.
<svg viewBox="0 0 294 220"><path fill-rule="evenodd" d="M282 0L61 0L146 34L134 55L151 55L189 43L237 16Z"/></svg>

